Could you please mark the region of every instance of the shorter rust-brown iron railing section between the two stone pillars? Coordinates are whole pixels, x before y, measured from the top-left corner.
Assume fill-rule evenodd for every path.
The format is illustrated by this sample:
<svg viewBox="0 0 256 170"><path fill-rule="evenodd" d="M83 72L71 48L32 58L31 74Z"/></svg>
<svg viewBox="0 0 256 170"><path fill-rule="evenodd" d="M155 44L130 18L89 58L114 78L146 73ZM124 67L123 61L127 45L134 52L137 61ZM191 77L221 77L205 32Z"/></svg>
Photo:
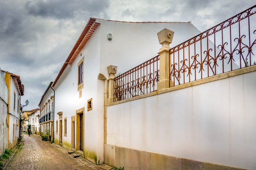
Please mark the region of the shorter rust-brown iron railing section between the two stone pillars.
<svg viewBox="0 0 256 170"><path fill-rule="evenodd" d="M159 56L114 78L114 101L153 92L159 81Z"/></svg>

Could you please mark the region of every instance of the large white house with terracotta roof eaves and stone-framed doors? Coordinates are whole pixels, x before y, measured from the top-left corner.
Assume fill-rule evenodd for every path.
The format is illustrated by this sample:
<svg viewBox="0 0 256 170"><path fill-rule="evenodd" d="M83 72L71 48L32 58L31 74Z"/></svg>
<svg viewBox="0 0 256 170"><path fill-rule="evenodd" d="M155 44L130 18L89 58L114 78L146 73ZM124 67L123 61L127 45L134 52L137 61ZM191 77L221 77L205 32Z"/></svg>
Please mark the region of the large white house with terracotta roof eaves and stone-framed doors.
<svg viewBox="0 0 256 170"><path fill-rule="evenodd" d="M175 32L173 46L200 33L190 22L120 22L90 18L52 84L55 143L75 150L94 163L103 163L103 148L107 142L107 67L118 66L118 72L123 73L157 56L156 34L164 28ZM41 99L40 107L53 91L46 90L45 94L47 97Z"/></svg>

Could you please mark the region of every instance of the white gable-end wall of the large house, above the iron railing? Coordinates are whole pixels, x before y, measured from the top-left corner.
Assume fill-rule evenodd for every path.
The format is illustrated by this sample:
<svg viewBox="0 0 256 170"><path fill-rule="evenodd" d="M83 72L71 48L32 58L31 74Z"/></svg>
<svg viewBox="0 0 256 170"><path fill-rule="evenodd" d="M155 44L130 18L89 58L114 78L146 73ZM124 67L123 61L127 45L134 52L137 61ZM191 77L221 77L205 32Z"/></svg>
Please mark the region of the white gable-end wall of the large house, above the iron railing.
<svg viewBox="0 0 256 170"><path fill-rule="evenodd" d="M174 47L201 32L189 22L129 23L97 19L101 23L101 73L108 78L107 66L118 66L119 73L157 56L161 48L157 33L164 28L174 31ZM112 40L107 34L112 34Z"/></svg>

